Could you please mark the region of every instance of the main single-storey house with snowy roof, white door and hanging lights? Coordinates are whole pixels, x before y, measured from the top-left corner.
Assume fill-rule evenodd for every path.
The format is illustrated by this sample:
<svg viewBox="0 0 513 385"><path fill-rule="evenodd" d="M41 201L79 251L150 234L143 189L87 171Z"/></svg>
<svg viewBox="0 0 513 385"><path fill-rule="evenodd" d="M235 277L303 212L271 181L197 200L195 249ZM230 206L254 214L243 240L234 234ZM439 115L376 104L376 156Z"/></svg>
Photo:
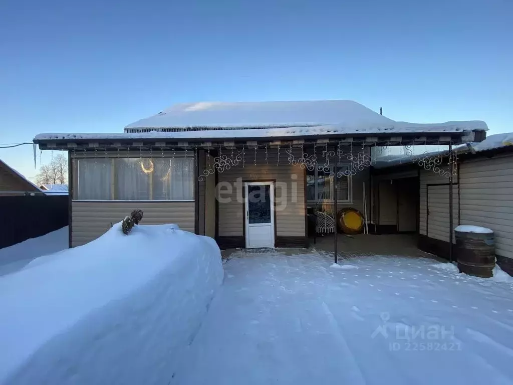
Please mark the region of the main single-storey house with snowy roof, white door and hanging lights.
<svg viewBox="0 0 513 385"><path fill-rule="evenodd" d="M70 247L134 208L147 224L177 223L222 248L292 247L308 244L309 208L364 213L371 148L479 142L486 130L480 121L396 122L353 101L203 102L175 105L124 132L33 141L68 150Z"/></svg>

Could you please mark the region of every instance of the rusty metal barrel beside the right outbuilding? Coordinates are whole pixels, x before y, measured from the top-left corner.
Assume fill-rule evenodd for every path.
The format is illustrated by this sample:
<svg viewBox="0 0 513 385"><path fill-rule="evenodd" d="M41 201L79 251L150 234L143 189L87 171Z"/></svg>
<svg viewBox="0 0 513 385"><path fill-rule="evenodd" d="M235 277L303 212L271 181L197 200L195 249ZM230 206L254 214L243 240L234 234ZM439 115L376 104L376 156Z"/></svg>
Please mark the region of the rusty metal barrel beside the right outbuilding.
<svg viewBox="0 0 513 385"><path fill-rule="evenodd" d="M495 267L495 236L455 230L456 256L460 273L489 278Z"/></svg>

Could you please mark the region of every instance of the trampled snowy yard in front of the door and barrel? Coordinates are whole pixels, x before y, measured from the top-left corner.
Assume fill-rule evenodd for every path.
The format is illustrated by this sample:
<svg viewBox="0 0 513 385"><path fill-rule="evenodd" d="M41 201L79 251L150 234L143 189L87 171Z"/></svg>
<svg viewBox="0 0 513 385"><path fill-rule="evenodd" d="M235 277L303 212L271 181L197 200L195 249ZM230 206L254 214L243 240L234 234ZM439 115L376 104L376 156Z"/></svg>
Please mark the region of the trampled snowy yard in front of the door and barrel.
<svg viewBox="0 0 513 385"><path fill-rule="evenodd" d="M350 263L358 268L315 254L229 260L173 383L513 383L511 281L429 259Z"/></svg>

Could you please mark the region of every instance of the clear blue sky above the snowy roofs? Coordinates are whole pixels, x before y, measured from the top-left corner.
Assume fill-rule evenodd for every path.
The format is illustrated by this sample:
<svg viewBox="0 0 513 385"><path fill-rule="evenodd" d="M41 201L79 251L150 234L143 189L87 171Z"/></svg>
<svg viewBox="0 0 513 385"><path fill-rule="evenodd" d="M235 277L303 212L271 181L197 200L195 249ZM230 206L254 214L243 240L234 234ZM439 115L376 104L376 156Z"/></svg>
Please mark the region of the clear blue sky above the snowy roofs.
<svg viewBox="0 0 513 385"><path fill-rule="evenodd" d="M510 0L75 3L0 2L0 144L203 100L350 99L513 131ZM36 174L31 146L0 158Z"/></svg>

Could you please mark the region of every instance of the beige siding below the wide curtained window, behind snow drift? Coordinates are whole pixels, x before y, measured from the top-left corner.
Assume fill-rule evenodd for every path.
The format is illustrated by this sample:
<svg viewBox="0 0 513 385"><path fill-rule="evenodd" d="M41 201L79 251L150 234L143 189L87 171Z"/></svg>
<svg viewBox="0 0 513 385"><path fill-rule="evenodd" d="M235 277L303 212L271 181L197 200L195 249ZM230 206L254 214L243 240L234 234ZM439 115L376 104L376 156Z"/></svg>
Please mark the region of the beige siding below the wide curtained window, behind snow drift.
<svg viewBox="0 0 513 385"><path fill-rule="evenodd" d="M72 246L100 237L135 208L144 212L142 224L176 223L183 230L194 232L194 202L73 201Z"/></svg>

